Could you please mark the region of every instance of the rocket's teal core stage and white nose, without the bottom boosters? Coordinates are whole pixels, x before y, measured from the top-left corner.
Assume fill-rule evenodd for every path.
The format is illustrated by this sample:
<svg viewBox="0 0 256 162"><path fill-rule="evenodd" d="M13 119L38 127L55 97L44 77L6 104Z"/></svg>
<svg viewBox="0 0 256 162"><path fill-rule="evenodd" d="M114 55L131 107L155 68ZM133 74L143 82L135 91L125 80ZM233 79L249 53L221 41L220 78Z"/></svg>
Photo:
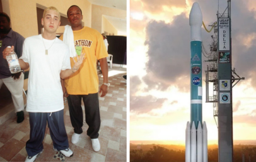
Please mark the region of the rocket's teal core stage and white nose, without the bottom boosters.
<svg viewBox="0 0 256 162"><path fill-rule="evenodd" d="M189 14L190 25L190 124L202 123L202 12L194 3Z"/></svg>

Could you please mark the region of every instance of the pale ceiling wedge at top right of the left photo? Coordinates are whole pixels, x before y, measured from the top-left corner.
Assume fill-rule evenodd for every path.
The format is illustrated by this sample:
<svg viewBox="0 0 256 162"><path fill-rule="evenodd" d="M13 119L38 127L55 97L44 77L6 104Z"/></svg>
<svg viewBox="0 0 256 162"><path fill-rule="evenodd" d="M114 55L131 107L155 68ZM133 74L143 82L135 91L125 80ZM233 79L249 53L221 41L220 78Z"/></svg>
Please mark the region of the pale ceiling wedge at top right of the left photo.
<svg viewBox="0 0 256 162"><path fill-rule="evenodd" d="M107 8L116 8L126 11L126 0L88 0L91 4L105 6ZM115 7L114 7L115 6Z"/></svg>

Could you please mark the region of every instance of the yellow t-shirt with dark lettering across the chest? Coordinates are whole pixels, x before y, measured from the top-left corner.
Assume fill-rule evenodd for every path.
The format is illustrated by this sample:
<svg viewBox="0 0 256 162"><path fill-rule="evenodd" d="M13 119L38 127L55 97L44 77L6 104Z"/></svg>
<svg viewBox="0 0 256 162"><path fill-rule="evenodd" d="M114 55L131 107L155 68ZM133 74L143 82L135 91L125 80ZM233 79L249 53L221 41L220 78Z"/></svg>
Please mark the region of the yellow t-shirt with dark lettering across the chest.
<svg viewBox="0 0 256 162"><path fill-rule="evenodd" d="M98 92L98 75L96 60L108 57L108 53L102 35L86 26L81 30L73 31L74 46L82 46L82 53L86 53L86 60L83 61L78 72L65 78L67 93L71 95L87 95ZM63 35L60 37L63 40ZM76 57L75 57L76 60ZM71 67L73 59L70 58Z"/></svg>

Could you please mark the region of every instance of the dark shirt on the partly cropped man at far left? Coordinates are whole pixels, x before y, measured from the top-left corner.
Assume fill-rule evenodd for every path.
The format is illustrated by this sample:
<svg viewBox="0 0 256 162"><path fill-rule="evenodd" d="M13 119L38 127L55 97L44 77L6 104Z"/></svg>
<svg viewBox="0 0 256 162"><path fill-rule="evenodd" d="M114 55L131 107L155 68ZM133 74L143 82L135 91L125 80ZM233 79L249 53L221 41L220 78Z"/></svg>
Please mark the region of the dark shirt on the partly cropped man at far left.
<svg viewBox="0 0 256 162"><path fill-rule="evenodd" d="M7 60L3 58L4 49L7 46L15 46L15 53L17 54L17 57L20 58L24 40L25 38L23 36L12 29L9 31L8 35L0 38L0 41L2 41L2 46L0 47L0 79L11 77Z"/></svg>

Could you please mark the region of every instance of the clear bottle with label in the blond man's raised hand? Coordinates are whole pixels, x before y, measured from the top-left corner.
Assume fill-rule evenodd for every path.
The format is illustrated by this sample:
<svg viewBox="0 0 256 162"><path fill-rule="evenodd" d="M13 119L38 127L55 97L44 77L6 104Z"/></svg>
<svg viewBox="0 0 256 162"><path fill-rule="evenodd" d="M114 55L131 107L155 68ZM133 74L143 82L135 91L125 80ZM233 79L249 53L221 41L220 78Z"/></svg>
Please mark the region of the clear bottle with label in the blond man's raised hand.
<svg viewBox="0 0 256 162"><path fill-rule="evenodd" d="M11 46L8 46L7 48L11 48ZM15 51L9 53L9 55L6 57L6 60L8 62L9 70L11 73L21 72L20 63Z"/></svg>

